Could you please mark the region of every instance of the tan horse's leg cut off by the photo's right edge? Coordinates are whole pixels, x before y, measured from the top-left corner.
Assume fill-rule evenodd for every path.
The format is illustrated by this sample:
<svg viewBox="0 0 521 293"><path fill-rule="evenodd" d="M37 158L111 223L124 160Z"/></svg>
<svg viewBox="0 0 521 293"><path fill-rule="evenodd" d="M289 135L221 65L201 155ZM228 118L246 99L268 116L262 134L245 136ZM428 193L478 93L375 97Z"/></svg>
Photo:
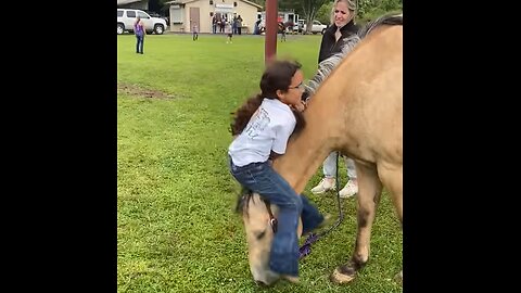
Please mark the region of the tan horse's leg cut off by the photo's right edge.
<svg viewBox="0 0 521 293"><path fill-rule="evenodd" d="M402 166L379 166L378 174L382 180L385 188L391 193L391 199L396 211L396 215L399 219L399 225L403 227L403 169ZM394 279L402 283L403 281L403 271L399 271Z"/></svg>

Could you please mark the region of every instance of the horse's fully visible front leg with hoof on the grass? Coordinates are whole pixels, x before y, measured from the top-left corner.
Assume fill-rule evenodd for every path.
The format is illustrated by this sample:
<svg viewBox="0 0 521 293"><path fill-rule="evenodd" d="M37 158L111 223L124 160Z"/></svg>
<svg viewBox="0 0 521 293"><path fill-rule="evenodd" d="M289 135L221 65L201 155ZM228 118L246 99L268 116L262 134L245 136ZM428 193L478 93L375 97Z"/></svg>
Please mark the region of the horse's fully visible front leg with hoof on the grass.
<svg viewBox="0 0 521 293"><path fill-rule="evenodd" d="M371 227L374 220L377 206L382 193L382 183L378 178L374 165L366 166L356 164L358 179L357 195L357 234L355 251L347 264L338 267L331 275L331 281L335 283L351 282L356 272L363 268L369 259L369 242Z"/></svg>

